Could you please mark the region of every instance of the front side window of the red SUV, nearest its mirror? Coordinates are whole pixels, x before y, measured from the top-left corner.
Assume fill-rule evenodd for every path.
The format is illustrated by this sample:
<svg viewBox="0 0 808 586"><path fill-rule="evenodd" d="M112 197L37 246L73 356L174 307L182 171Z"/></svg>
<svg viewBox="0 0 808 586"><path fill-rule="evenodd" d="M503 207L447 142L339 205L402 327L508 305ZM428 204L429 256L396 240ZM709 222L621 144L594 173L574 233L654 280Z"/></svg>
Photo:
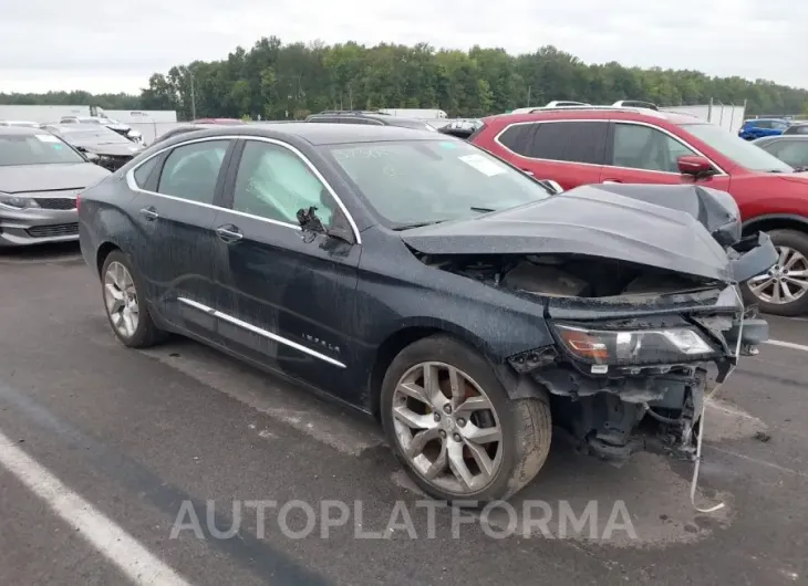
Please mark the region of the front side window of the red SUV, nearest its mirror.
<svg viewBox="0 0 808 586"><path fill-rule="evenodd" d="M678 158L695 153L666 134L639 124L615 124L613 163L617 167L678 172Z"/></svg>

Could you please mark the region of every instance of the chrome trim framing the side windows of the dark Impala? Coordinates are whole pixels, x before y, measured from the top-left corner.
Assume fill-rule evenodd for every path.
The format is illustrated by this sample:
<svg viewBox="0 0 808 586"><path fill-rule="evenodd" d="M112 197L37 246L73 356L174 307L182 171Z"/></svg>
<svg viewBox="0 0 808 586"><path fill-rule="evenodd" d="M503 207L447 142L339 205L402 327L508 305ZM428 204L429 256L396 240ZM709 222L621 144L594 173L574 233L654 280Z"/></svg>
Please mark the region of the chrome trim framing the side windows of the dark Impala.
<svg viewBox="0 0 808 586"><path fill-rule="evenodd" d="M263 137L263 136L249 136L249 135L221 135L221 136L206 136L205 138L194 138L194 139L190 139L190 140L184 140L184 142L180 142L180 143L177 143L177 144L167 146L165 148L162 148L162 149L157 150L156 153L153 153L152 155L149 155L148 158L143 159L137 165L135 165L134 167L132 167L126 172L126 185L133 191L137 191L137 192L141 192L141 193L148 193L149 196L158 196L158 197L163 197L163 198L173 199L173 200L176 200L176 201L183 201L183 202L191 203L191 205L195 205L195 206L201 206L201 207L210 208L210 209L215 209L215 210L222 210L222 211L227 211L229 213L235 213L237 216L242 216L245 218L252 218L255 220L261 220L261 221L265 221L267 223L274 224L274 226L283 226L286 228L291 228L293 230L300 230L300 227L299 226L296 226L296 224L292 224L292 223L281 222L281 221L278 221L278 220L270 220L269 218L262 218L260 216L253 216L251 213L245 213L245 212L241 212L241 211L236 211L236 210L234 210L231 208L222 208L221 206L213 206L210 203L201 203L199 201L191 201L191 200L188 200L188 199L183 199L183 198L178 198L178 197L174 197L174 196L166 196L165 193L158 193L156 191L149 191L147 189L143 189L142 187L139 187L135 182L135 171L142 165L145 165L148 160L153 159L154 157L156 157L156 156L165 153L166 150L169 150L169 149L173 149L173 148L176 148L176 147L179 147L179 146L193 145L195 143L206 143L206 142L210 142L210 140L257 140L259 143L269 143L271 145L277 145L279 147L286 148L287 150L290 150L291 153L293 153L299 159L301 159L305 164L305 166L309 168L309 170L314 175L314 177L318 178L318 180L323 185L323 187L325 187L325 190L331 195L331 197L336 202L336 206L340 208L340 210L342 211L342 213L344 213L345 218L348 219L348 223L351 226L351 230L353 231L353 236L356 239L356 244L362 244L362 237L361 237L361 234L359 232L359 228L356 227L356 222L354 222L353 217L348 211L348 208L342 202L342 199L340 199L340 196L336 195L336 191L334 191L333 187L331 187L331 185L325 180L325 178L322 176L322 174L317 169L317 167L314 167L314 164L311 163L305 157L305 155L303 155L300 150L298 150L297 148L294 148L292 145L289 145L289 144L283 143L282 140L278 140L276 138L267 138L267 137Z"/></svg>

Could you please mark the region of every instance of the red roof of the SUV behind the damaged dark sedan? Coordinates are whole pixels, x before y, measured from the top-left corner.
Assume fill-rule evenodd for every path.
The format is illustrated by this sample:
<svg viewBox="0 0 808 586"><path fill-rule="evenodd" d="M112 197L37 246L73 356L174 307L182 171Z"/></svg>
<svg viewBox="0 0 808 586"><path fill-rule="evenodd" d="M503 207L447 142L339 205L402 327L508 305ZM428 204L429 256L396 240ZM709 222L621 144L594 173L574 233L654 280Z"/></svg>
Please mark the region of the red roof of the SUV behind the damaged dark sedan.
<svg viewBox="0 0 808 586"><path fill-rule="evenodd" d="M664 119L671 124L707 124L705 121L686 114L677 114L673 112L654 111L638 107L619 107L619 106L576 106L576 107L555 107L555 108L536 108L530 113L520 114L496 114L484 118L486 124L493 121L506 121L508 123L532 122L543 119L625 119L648 122L651 124L659 123Z"/></svg>

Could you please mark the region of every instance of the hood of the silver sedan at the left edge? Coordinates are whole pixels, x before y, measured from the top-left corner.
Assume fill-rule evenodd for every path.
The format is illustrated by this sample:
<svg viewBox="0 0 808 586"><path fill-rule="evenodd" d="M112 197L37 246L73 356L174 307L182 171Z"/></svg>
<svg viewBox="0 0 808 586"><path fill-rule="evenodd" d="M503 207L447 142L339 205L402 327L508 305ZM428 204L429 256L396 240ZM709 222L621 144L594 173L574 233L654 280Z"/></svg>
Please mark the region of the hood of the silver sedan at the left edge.
<svg viewBox="0 0 808 586"><path fill-rule="evenodd" d="M92 163L0 166L0 191L33 193L84 189L108 175L110 171Z"/></svg>

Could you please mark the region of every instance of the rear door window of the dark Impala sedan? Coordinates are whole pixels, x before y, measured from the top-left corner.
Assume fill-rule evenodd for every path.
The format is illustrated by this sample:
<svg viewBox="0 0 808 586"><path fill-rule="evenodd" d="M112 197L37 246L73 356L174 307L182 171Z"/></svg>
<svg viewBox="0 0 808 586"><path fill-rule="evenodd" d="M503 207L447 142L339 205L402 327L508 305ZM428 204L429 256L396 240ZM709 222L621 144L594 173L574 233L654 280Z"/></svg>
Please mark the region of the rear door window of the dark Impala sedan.
<svg viewBox="0 0 808 586"><path fill-rule="evenodd" d="M229 140L178 146L168 155L157 191L199 203L213 203Z"/></svg>

